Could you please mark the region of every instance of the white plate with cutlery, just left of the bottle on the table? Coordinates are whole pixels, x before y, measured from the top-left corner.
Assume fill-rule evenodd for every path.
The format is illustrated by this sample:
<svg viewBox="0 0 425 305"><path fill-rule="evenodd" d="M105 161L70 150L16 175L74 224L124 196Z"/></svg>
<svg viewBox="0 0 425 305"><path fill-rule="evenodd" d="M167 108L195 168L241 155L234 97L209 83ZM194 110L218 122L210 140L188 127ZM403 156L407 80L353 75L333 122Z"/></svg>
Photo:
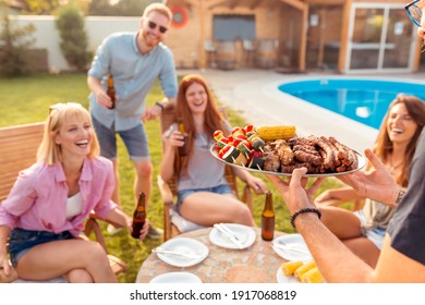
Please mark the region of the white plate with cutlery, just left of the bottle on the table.
<svg viewBox="0 0 425 305"><path fill-rule="evenodd" d="M236 235L242 241L243 248L247 248L254 244L256 235L253 228L238 223L223 224L228 227L229 230L232 231L234 235ZM229 237L221 233L217 228L212 228L212 230L209 232L209 240L212 244L220 247L240 249L236 244L229 240Z"/></svg>

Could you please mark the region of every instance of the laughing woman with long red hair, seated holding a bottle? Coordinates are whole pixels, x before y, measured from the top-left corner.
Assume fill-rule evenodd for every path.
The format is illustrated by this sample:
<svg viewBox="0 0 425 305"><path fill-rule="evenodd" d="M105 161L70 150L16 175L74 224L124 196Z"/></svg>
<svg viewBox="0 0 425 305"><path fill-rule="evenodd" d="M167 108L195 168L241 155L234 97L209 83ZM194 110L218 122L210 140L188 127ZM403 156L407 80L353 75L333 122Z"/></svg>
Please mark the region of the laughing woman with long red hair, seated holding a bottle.
<svg viewBox="0 0 425 305"><path fill-rule="evenodd" d="M229 131L214 97L198 75L186 75L180 83L177 115L182 119L187 136L187 156L175 157L184 145L184 136L173 124L165 133L165 152L160 174L168 182L178 172L178 209L187 220L199 225L234 222L255 225L248 207L233 194L224 179L224 164L209 152L216 130ZM247 171L233 169L257 193L267 191L263 180Z"/></svg>

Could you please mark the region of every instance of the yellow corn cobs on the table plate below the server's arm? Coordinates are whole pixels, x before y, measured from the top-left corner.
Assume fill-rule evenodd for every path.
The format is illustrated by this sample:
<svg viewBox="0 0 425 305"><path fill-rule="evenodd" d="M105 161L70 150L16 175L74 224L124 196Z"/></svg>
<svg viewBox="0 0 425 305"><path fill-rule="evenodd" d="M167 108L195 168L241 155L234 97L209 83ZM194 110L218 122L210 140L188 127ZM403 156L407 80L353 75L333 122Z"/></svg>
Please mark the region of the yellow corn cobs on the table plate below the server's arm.
<svg viewBox="0 0 425 305"><path fill-rule="evenodd" d="M302 283L324 283L325 279L318 270L314 260L303 263L286 261L280 266L280 270L287 277L294 277Z"/></svg>

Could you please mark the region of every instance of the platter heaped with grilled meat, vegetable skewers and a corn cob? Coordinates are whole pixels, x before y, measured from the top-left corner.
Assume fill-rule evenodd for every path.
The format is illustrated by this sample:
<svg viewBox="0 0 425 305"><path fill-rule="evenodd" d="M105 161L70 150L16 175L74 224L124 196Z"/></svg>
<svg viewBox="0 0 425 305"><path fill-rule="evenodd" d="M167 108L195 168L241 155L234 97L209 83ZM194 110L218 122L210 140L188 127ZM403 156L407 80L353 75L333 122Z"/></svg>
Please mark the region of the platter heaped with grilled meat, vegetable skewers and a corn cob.
<svg viewBox="0 0 425 305"><path fill-rule="evenodd" d="M298 136L294 125L246 125L229 135L214 133L211 152L219 160L247 170L290 175L307 168L308 176L337 175L362 169L365 158L335 137Z"/></svg>

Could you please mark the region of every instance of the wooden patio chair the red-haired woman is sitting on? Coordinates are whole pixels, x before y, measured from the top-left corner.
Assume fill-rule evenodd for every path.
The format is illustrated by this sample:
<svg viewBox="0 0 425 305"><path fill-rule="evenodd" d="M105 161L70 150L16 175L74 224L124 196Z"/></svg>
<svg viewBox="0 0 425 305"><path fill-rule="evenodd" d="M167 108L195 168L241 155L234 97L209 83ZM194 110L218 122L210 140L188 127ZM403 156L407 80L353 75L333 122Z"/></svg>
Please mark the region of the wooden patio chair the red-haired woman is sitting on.
<svg viewBox="0 0 425 305"><path fill-rule="evenodd" d="M223 113L226 118L224 108L220 108L220 111ZM174 108L170 107L165 109L160 115L160 127L161 135L170 127L170 125L175 122L175 111ZM163 143L162 143L162 152L163 152ZM226 167L224 176L233 190L233 193L240 198L243 203L245 203L251 211L253 211L252 206L252 193L251 187L245 184L243 186L242 195L239 196L238 192L238 182L236 176L230 167ZM192 230L204 228L196 223L193 223L186 219L184 219L177 211L175 203L177 203L177 190L175 190L177 174L166 183L160 175L157 178L157 184L159 188L159 193L161 196L161 200L163 203L163 240L167 241L175 235L179 235L184 232L189 232Z"/></svg>

